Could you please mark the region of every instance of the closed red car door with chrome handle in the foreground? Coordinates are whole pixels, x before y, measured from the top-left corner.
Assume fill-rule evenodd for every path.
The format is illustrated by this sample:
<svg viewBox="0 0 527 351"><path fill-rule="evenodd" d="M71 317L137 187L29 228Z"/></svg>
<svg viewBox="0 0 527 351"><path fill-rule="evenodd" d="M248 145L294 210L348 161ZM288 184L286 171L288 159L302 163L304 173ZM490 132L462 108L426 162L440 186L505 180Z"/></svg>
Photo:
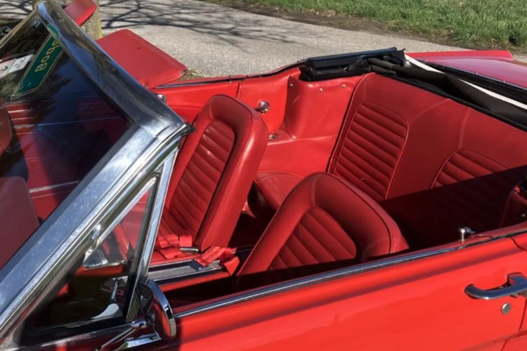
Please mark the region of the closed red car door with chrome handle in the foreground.
<svg viewBox="0 0 527 351"><path fill-rule="evenodd" d="M485 300L466 290L495 294L510 274L527 274L526 252L508 237L479 238L180 312L176 343L180 350L501 350L519 331L525 298Z"/></svg>

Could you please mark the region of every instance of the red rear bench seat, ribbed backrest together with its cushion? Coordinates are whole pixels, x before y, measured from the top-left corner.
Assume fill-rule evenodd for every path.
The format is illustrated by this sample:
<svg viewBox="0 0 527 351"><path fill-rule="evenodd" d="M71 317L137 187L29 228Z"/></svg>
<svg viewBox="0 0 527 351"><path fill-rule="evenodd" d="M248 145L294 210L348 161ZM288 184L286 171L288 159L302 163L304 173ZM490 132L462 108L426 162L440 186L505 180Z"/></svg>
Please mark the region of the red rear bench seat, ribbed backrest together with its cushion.
<svg viewBox="0 0 527 351"><path fill-rule="evenodd" d="M521 171L519 167L527 164L526 144L523 131L497 119L429 91L369 74L353 93L337 145L328 155L327 171L376 201L501 172L499 179L490 179L494 186L476 182L475 188L471 185L460 195L479 206L483 193L491 190L486 212L493 216L483 216L492 218L486 223L497 225L507 194L519 180L518 172L505 171ZM300 180L279 169L266 170L257 174L256 189L264 202L276 209ZM497 192L503 199L495 197ZM448 204L438 202L429 206L432 213L448 208ZM392 216L408 217L408 208L398 207L401 211L396 208ZM476 213L481 217L481 211ZM455 221L456 225L460 221ZM426 225L425 221L418 222Z"/></svg>

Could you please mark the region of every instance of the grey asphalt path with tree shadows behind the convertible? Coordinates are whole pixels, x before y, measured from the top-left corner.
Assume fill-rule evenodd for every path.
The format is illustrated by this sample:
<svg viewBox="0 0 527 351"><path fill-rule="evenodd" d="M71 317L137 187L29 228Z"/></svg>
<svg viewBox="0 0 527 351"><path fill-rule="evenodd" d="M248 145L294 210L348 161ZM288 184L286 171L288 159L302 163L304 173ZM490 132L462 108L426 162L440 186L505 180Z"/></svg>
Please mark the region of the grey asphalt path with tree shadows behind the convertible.
<svg viewBox="0 0 527 351"><path fill-rule="evenodd" d="M190 69L208 76L266 72L301 58L396 46L462 50L370 32L283 20L197 0L100 0L105 34L128 28ZM29 0L1 0L0 15L20 17ZM527 61L519 56L519 60Z"/></svg>

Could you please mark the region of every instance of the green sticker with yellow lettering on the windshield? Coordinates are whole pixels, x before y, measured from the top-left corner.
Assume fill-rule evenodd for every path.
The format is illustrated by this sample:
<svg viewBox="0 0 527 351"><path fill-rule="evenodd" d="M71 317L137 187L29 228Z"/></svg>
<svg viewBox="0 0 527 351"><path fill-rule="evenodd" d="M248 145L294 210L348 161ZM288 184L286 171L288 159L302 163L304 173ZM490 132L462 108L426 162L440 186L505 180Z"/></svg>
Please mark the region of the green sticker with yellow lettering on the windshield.
<svg viewBox="0 0 527 351"><path fill-rule="evenodd" d="M18 88L13 93L13 98L19 98L22 95L39 90L48 78L53 67L55 67L62 53L63 49L50 35L35 56L30 68L25 71L22 80L18 84Z"/></svg>

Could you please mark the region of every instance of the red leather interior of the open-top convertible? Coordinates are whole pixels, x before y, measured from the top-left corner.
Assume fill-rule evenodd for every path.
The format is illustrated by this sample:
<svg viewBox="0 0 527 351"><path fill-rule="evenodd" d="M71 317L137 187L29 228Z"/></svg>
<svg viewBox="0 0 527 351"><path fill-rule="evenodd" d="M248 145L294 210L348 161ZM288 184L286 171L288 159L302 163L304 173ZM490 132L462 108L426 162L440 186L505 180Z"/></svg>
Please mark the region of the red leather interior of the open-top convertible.
<svg viewBox="0 0 527 351"><path fill-rule="evenodd" d="M174 165L150 263L150 277L176 312L524 225L527 112L403 61L398 51L372 60L339 55L152 90L194 128ZM0 111L11 119L0 131L2 152L15 153L25 167L15 174L2 165L8 171L0 174L0 192L25 201L32 213L22 220L27 236L84 176L83 167L91 168L86 162L100 159L126 127L111 107L88 105L79 110L83 123L68 130L32 121L28 106ZM108 118L92 120L100 114ZM51 138L53 128L71 140ZM84 156L59 164L77 144L86 146ZM56 172L39 176L49 160L57 160ZM117 225L115 241L134 246L130 233L141 227L146 202ZM58 298L72 295L65 286Z"/></svg>

